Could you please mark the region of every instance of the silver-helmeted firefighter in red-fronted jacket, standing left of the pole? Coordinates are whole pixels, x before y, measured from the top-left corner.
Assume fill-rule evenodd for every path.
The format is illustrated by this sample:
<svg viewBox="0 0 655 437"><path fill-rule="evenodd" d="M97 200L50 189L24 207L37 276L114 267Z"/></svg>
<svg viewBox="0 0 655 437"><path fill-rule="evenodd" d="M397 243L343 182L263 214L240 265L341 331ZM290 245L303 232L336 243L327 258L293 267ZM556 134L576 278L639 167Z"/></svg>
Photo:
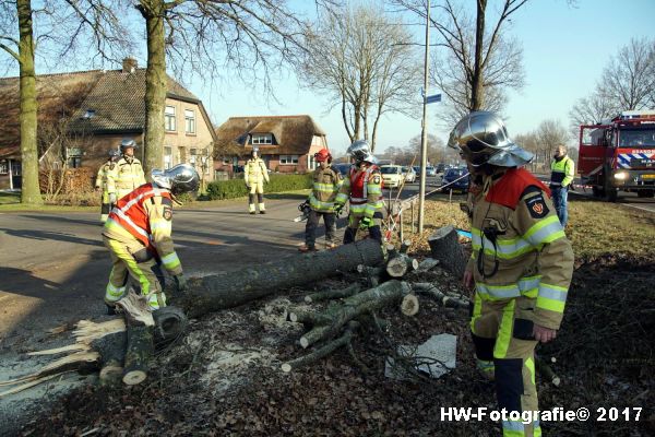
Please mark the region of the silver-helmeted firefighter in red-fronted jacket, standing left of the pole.
<svg viewBox="0 0 655 437"><path fill-rule="evenodd" d="M353 165L344 178L336 197L335 211L342 210L349 200L350 213L344 235L344 245L355 241L357 229L368 231L369 236L382 243L382 176L376 165L368 141L357 140L348 147Z"/></svg>

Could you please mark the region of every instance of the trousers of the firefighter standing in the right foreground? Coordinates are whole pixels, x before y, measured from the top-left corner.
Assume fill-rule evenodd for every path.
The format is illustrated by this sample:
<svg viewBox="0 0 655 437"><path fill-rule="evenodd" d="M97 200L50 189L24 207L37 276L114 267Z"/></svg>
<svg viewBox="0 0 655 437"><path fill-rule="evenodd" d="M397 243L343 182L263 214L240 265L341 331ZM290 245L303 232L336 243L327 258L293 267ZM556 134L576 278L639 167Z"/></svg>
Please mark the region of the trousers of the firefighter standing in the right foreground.
<svg viewBox="0 0 655 437"><path fill-rule="evenodd" d="M475 294L471 331L478 368L495 379L500 410L538 411L533 336L534 298L485 300ZM509 417L508 417L509 418ZM539 421L502 421L504 437L538 437Z"/></svg>

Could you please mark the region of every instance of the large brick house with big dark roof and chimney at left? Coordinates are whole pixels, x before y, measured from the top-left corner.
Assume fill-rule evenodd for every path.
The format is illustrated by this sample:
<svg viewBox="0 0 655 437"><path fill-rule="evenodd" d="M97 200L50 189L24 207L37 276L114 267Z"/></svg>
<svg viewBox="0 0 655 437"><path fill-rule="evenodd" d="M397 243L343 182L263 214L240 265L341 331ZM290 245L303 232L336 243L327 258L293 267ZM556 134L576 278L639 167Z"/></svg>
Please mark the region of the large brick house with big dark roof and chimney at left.
<svg viewBox="0 0 655 437"><path fill-rule="evenodd" d="M206 181L213 180L212 150L216 140L214 127L202 104L191 92L168 79L165 110L163 168L179 163L196 166ZM109 149L117 149L124 138L139 145L136 156L143 161L145 127L145 69L134 59L123 60L120 70L92 70L37 76L39 105L39 163L69 168L87 167L94 173L107 158ZM2 160L10 168L20 164L19 80L0 79L0 109L10 109L7 126L0 128L0 189L15 188L15 172L10 181ZM13 105L14 110L11 110ZM4 111L3 114L8 114ZM55 147L53 131L66 135ZM13 166L13 167L12 167Z"/></svg>

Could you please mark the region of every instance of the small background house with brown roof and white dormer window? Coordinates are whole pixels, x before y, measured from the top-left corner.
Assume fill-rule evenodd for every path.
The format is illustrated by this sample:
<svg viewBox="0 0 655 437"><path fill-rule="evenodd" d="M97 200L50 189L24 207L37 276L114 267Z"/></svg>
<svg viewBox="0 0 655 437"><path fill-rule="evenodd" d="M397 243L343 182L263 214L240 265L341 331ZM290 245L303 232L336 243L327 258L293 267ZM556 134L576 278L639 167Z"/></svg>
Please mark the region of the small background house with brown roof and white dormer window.
<svg viewBox="0 0 655 437"><path fill-rule="evenodd" d="M325 132L308 115L230 117L216 129L214 168L233 173L252 147L277 173L307 173L315 168L314 153L327 149Z"/></svg>

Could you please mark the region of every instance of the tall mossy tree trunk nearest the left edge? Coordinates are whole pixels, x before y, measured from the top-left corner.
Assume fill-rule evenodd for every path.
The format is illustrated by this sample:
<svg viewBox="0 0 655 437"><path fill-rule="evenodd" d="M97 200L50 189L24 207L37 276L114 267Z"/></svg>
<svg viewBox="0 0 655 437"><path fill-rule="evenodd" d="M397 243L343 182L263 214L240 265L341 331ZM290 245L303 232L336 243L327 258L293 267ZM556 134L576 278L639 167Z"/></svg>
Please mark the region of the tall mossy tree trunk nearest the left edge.
<svg viewBox="0 0 655 437"><path fill-rule="evenodd" d="M31 0L17 0L19 66L21 74L21 203L41 204L38 186L38 147L36 143L36 73L34 71L34 38L32 36Z"/></svg>

